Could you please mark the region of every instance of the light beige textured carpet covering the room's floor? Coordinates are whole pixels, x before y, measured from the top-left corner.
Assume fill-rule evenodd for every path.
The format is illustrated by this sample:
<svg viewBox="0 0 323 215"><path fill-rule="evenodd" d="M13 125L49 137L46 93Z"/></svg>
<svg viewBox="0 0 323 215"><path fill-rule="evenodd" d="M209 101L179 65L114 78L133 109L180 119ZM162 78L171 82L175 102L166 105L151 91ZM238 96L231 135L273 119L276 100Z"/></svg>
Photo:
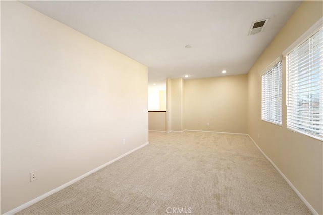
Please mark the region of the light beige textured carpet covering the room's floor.
<svg viewBox="0 0 323 215"><path fill-rule="evenodd" d="M19 214L311 214L248 136L150 132L149 143Z"/></svg>

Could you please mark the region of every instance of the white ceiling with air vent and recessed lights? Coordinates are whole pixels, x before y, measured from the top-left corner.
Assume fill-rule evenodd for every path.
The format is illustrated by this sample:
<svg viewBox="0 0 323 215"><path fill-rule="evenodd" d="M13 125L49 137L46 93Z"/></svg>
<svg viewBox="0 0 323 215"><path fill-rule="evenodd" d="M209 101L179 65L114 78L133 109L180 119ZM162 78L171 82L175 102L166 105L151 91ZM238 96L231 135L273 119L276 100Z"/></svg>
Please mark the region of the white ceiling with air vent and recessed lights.
<svg viewBox="0 0 323 215"><path fill-rule="evenodd" d="M23 1L165 78L248 73L301 1ZM270 18L248 36L253 21ZM191 45L187 49L185 45Z"/></svg>

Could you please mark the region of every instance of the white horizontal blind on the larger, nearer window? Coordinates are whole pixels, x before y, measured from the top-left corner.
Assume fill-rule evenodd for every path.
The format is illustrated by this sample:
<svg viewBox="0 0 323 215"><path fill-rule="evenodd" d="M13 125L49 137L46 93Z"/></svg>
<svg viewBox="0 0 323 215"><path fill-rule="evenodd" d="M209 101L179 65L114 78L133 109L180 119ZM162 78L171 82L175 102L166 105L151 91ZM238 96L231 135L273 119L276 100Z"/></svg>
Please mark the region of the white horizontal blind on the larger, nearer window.
<svg viewBox="0 0 323 215"><path fill-rule="evenodd" d="M286 56L287 128L323 140L323 28Z"/></svg>

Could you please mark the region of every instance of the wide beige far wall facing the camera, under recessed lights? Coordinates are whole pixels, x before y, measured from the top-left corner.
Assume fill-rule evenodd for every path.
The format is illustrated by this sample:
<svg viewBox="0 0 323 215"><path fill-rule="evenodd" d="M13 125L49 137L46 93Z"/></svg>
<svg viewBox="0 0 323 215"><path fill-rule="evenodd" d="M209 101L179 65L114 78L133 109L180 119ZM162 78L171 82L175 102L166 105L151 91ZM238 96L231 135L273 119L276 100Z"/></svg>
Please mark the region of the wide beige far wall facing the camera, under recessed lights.
<svg viewBox="0 0 323 215"><path fill-rule="evenodd" d="M185 80L184 128L247 133L247 90L247 75Z"/></svg>

